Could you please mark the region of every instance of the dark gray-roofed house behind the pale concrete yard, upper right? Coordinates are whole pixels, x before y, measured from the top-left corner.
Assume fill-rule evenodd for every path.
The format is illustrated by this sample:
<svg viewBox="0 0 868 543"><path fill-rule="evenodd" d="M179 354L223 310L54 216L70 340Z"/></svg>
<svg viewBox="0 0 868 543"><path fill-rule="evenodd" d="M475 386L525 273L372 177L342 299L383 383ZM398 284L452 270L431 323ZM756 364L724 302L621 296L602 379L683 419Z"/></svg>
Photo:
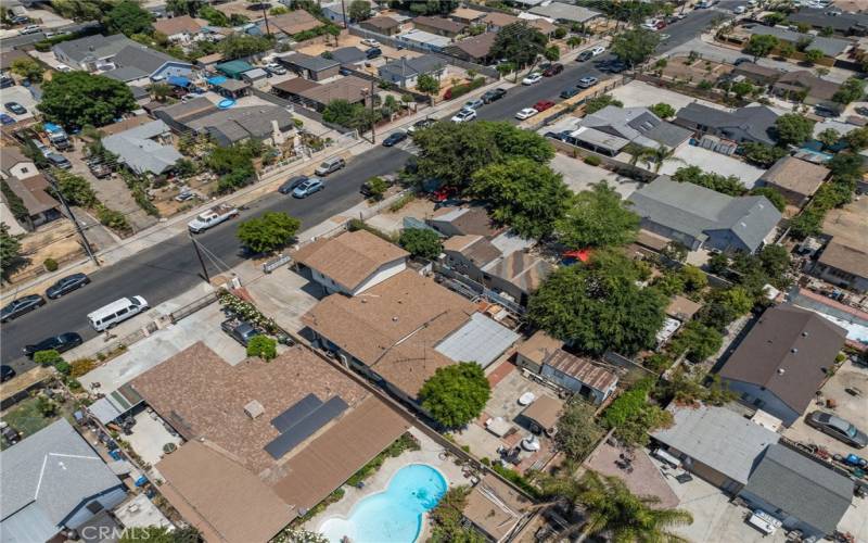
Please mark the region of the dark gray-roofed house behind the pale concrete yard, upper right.
<svg viewBox="0 0 868 543"><path fill-rule="evenodd" d="M739 143L753 141L774 146L771 134L777 118L778 114L765 105L726 112L692 102L678 110L674 123L699 135L711 134Z"/></svg>

